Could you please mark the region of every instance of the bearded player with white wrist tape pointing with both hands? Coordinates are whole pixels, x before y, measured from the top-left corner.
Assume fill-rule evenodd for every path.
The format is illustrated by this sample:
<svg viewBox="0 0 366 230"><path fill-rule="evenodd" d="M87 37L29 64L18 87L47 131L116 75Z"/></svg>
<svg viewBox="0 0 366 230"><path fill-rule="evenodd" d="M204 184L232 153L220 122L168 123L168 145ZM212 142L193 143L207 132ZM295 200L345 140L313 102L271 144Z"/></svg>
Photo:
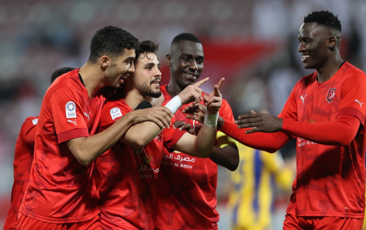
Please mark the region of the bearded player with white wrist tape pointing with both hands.
<svg viewBox="0 0 366 230"><path fill-rule="evenodd" d="M143 41L136 49L135 72L123 84L122 91L104 105L101 131L133 111L148 97L161 96L157 49L158 45L152 41ZM186 87L166 106L172 108L172 102L178 98L181 100L179 105L192 102L195 95L202 93L198 86L206 80L207 78ZM209 103L207 116L213 116L211 113L217 114L221 106L222 99L218 91L221 84L222 80L218 88L206 98ZM178 108L176 106L172 109L176 111ZM195 157L208 157L216 139L216 125L210 125L206 121L197 136L172 127L161 131L153 122L136 124L128 129L119 143L96 160L96 168L101 176L101 186L98 187L103 229L153 230L156 216L156 177L160 170L163 146L170 151L179 150ZM142 147L141 153L134 154L133 148ZM183 165L194 158L189 156L180 160Z"/></svg>

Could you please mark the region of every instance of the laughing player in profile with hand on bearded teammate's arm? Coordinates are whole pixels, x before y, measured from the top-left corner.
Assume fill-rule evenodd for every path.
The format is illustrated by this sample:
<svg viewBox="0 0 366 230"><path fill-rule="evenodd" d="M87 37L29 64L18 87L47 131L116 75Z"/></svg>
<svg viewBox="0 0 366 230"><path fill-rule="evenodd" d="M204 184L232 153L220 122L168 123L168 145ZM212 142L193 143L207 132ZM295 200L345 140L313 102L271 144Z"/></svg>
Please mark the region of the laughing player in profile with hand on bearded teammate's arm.
<svg viewBox="0 0 366 230"><path fill-rule="evenodd" d="M92 177L94 159L134 122L169 125L167 108L141 109L95 134L105 102L100 89L120 87L134 72L137 45L137 38L118 27L98 30L91 39L87 63L58 78L46 91L17 229L101 229Z"/></svg>

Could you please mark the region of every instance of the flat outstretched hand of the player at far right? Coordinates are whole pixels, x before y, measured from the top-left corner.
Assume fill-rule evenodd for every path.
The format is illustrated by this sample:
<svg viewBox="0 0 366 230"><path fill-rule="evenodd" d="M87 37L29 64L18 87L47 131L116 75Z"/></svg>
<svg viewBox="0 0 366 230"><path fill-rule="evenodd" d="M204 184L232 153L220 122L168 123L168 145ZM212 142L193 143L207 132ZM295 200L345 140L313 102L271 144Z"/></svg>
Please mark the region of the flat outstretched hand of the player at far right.
<svg viewBox="0 0 366 230"><path fill-rule="evenodd" d="M253 128L245 131L245 133L265 132L273 133L282 130L283 119L272 116L268 113L255 113L240 115L239 120L235 121L239 129Z"/></svg>

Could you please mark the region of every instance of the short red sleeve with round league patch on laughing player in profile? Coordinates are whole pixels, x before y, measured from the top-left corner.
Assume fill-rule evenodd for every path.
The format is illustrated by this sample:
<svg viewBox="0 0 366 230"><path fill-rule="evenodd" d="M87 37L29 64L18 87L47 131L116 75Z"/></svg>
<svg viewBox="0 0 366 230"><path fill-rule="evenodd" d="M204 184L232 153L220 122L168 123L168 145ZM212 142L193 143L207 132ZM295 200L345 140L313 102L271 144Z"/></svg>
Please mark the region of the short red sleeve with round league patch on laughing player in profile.
<svg viewBox="0 0 366 230"><path fill-rule="evenodd" d="M49 103L59 143L89 136L83 110L85 99L76 90L60 88Z"/></svg>

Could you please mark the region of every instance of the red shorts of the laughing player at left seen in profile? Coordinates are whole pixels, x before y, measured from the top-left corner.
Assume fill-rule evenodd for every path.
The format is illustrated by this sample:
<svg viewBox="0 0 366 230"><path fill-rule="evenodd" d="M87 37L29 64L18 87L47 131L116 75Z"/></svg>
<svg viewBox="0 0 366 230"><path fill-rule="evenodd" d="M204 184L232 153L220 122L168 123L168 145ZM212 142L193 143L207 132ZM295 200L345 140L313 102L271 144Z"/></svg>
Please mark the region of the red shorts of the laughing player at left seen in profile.
<svg viewBox="0 0 366 230"><path fill-rule="evenodd" d="M18 223L16 224L17 230L33 230L33 229L47 229L47 230L102 230L100 224L100 217L96 215L93 219L77 222L77 223L64 223L55 224L47 223L40 220L30 218L23 213L19 212Z"/></svg>

